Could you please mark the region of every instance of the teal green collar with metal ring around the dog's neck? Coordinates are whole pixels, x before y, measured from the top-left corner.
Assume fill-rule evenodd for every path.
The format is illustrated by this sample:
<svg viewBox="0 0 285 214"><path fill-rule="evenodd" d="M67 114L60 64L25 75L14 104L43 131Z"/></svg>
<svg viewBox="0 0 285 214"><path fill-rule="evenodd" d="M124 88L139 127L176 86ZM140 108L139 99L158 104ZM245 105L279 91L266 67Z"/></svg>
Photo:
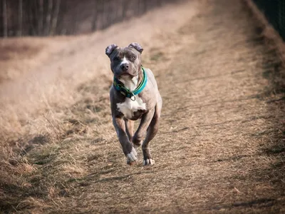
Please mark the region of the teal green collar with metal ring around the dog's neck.
<svg viewBox="0 0 285 214"><path fill-rule="evenodd" d="M123 94L123 96L130 98L132 101L135 101L135 95L142 92L143 88L145 88L147 84L147 74L145 73L145 69L142 67L142 81L138 85L138 88L135 88L134 91L130 91L128 88L125 88L122 82L118 80L118 78L115 78L114 76L114 82L113 85L115 86L115 89ZM134 98L133 98L134 97Z"/></svg>

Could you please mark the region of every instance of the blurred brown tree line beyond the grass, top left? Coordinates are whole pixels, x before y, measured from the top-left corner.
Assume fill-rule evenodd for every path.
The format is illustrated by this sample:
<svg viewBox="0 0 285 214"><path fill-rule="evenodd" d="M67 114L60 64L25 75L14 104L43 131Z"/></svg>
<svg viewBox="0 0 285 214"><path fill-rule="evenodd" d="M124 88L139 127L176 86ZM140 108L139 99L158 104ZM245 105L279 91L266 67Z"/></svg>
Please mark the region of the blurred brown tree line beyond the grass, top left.
<svg viewBox="0 0 285 214"><path fill-rule="evenodd" d="M84 34L182 0L0 0L0 36Z"/></svg>

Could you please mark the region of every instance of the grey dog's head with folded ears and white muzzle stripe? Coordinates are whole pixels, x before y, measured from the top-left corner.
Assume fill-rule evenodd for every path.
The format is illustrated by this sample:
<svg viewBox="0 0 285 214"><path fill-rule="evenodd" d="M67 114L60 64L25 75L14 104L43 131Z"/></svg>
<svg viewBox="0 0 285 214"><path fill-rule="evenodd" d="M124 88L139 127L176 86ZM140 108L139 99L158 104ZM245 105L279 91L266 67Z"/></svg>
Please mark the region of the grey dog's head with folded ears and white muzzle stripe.
<svg viewBox="0 0 285 214"><path fill-rule="evenodd" d="M111 70L116 78L121 76L137 76L140 71L140 54L142 46L133 42L128 47L119 48L111 44L105 50L105 54L110 58Z"/></svg>

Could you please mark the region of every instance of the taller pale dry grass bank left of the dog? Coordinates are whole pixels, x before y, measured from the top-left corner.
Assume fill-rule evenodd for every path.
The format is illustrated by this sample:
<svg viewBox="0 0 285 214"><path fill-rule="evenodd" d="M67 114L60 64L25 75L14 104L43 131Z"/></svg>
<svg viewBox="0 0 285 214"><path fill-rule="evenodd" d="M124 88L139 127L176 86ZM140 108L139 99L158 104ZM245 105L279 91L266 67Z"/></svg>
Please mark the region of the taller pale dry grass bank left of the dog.
<svg viewBox="0 0 285 214"><path fill-rule="evenodd" d="M175 8L180 14L165 6L87 36L1 41L8 50L1 56L0 86L3 210L32 208L38 213L54 205L53 198L48 199L51 204L43 203L46 198L61 192L54 183L86 173L86 160L97 159L92 151L86 153L86 145L114 137L108 108L112 77L105 47L140 41L145 50L160 49L165 45L160 36L179 29L186 21L181 17L193 14L185 6ZM165 23L171 28L165 29ZM133 34L141 29L140 35ZM51 161L55 165L49 165ZM26 169L29 166L33 170ZM45 174L49 167L53 170Z"/></svg>

